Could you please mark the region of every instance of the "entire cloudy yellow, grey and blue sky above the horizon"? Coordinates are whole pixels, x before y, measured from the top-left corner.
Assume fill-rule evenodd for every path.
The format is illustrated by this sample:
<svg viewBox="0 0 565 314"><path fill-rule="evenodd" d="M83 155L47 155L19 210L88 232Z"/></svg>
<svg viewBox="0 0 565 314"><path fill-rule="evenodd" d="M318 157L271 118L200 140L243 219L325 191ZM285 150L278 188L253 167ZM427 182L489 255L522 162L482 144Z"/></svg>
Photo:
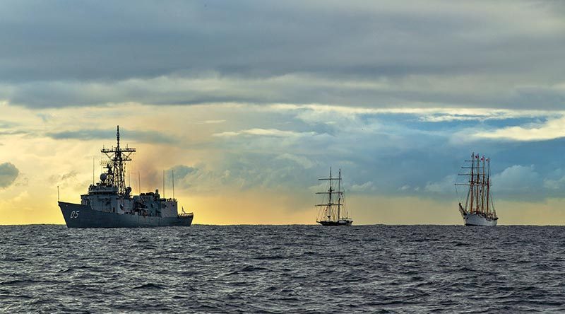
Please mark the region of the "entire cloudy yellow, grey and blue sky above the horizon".
<svg viewBox="0 0 565 314"><path fill-rule="evenodd" d="M194 223L460 224L491 160L499 224L565 223L561 1L2 1L0 224L64 223L135 147L134 192ZM141 183L141 186L140 186Z"/></svg>

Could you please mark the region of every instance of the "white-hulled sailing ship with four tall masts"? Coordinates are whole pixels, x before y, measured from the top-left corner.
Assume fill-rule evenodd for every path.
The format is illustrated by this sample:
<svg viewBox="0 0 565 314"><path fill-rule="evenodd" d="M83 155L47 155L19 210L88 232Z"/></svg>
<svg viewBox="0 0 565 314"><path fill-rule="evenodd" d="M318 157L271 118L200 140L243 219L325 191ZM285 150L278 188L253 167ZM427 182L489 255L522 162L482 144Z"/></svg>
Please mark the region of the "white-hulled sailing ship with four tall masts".
<svg viewBox="0 0 565 314"><path fill-rule="evenodd" d="M465 203L459 202L465 226L496 226L499 218L492 202L490 158L472 153L470 160L465 161L461 168L465 171L459 175L465 178L465 182L456 183L456 186L468 187Z"/></svg>

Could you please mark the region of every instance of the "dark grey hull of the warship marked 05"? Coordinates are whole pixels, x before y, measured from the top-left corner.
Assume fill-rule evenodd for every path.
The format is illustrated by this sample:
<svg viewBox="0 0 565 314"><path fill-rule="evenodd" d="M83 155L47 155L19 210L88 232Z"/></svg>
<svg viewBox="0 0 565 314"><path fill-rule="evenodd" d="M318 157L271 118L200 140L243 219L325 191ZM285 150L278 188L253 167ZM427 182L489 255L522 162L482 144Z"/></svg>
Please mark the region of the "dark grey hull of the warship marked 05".
<svg viewBox="0 0 565 314"><path fill-rule="evenodd" d="M59 207L69 228L140 228L190 226L194 215L172 217L117 214L95 211L90 206L59 202Z"/></svg>

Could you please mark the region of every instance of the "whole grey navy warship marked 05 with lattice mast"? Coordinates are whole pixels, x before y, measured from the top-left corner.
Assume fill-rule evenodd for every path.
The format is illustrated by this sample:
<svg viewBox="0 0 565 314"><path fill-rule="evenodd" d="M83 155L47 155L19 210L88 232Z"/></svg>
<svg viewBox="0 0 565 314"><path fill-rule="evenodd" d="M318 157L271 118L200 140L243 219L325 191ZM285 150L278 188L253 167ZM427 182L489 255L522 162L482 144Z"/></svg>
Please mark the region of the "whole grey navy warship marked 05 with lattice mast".
<svg viewBox="0 0 565 314"><path fill-rule="evenodd" d="M131 187L126 187L125 164L131 161L131 154L136 151L125 148L119 143L117 127L117 145L111 149L102 148L109 162L105 173L100 175L100 182L90 185L88 193L81 195L81 204L59 202L59 207L69 228L131 228L190 226L194 214L179 214L177 199L161 197L155 192L131 194Z"/></svg>

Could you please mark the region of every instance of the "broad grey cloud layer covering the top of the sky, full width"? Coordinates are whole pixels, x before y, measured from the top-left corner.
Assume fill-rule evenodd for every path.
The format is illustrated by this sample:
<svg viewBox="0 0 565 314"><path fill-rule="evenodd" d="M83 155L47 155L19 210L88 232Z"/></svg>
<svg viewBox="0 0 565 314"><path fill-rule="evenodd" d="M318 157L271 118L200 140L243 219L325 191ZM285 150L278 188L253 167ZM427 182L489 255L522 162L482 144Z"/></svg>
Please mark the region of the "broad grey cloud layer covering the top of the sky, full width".
<svg viewBox="0 0 565 314"><path fill-rule="evenodd" d="M537 1L4 1L0 99L554 109L564 21Z"/></svg>

